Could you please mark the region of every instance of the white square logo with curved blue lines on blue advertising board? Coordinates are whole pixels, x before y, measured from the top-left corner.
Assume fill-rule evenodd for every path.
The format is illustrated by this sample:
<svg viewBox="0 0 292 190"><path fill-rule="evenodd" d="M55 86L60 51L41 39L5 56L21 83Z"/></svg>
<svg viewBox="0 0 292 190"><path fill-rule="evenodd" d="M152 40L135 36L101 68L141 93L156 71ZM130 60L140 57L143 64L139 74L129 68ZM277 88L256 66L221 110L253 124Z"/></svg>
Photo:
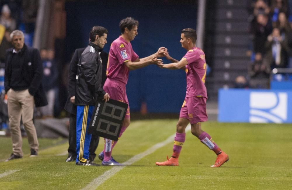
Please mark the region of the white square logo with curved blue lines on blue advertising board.
<svg viewBox="0 0 292 190"><path fill-rule="evenodd" d="M251 92L249 95L249 122L283 123L288 118L287 105L287 93Z"/></svg>

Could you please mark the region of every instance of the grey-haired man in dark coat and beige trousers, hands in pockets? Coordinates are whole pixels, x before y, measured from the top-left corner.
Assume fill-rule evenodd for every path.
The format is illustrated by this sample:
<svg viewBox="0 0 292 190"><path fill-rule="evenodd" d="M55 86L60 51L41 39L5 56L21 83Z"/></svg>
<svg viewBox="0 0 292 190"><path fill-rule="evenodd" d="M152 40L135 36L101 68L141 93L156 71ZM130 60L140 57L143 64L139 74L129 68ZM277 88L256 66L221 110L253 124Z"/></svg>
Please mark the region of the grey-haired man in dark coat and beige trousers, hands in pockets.
<svg viewBox="0 0 292 190"><path fill-rule="evenodd" d="M7 94L9 129L13 153L6 160L22 158L22 137L20 120L27 132L30 156L36 156L39 142L33 123L34 104L36 107L48 104L41 84L43 67L39 50L24 44L24 34L15 30L10 35L13 48L6 51L4 86Z"/></svg>

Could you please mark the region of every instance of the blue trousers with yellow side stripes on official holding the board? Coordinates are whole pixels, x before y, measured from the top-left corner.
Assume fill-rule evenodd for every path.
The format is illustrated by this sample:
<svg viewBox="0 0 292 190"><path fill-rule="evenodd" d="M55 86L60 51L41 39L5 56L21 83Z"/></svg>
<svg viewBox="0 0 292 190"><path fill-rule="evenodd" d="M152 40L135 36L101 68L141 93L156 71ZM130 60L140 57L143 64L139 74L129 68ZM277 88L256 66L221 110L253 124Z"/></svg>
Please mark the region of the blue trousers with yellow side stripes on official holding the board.
<svg viewBox="0 0 292 190"><path fill-rule="evenodd" d="M86 162L89 157L91 134L88 134L88 125L91 120L94 106L77 106L76 115L76 162Z"/></svg>

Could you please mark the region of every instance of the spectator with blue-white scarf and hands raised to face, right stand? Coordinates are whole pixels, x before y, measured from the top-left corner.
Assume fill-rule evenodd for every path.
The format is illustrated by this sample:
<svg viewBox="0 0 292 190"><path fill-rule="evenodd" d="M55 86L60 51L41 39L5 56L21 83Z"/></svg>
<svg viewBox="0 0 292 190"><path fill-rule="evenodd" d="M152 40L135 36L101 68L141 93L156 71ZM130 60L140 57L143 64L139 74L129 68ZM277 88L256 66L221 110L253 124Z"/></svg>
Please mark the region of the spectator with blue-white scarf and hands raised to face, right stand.
<svg viewBox="0 0 292 190"><path fill-rule="evenodd" d="M287 39L281 37L279 28L274 28L272 34L268 36L265 48L271 68L286 67L291 50L288 47Z"/></svg>

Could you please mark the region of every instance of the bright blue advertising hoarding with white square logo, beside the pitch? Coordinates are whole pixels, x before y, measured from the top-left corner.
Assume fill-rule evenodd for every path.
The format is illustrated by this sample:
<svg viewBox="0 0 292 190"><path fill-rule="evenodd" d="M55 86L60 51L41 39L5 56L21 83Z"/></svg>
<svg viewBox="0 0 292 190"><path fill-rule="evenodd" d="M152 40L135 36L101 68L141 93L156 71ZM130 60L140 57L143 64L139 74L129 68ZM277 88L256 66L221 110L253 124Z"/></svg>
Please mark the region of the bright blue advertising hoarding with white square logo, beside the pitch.
<svg viewBox="0 0 292 190"><path fill-rule="evenodd" d="M292 123L292 90L220 89L219 122Z"/></svg>

